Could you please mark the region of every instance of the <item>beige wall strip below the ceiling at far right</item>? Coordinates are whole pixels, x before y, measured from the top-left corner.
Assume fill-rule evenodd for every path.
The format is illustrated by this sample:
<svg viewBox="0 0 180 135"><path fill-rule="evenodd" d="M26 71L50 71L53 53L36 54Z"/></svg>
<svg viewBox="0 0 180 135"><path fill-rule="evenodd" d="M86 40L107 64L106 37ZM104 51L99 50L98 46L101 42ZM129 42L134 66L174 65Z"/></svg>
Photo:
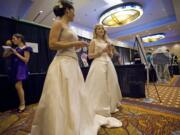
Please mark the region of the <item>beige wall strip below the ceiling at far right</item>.
<svg viewBox="0 0 180 135"><path fill-rule="evenodd" d="M158 45L158 46L151 46L151 47L145 47L145 50L153 49L155 51L157 48L166 48L169 49L170 53L174 53L178 56L178 60L180 61L180 43L172 43L167 45Z"/></svg>

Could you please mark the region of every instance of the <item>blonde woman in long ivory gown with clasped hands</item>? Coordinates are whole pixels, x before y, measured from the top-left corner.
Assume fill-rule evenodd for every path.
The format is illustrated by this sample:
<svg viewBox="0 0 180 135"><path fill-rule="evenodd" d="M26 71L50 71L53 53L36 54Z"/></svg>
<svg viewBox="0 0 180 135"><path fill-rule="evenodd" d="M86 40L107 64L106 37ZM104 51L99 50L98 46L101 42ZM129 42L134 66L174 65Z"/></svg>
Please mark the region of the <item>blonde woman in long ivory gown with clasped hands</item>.
<svg viewBox="0 0 180 135"><path fill-rule="evenodd" d="M86 82L88 100L95 114L103 120L108 119L107 126L120 127L122 123L111 117L111 113L117 112L122 95L119 88L117 74L112 64L110 43L107 41L106 31L103 25L96 25L94 39L89 46L88 56L93 58Z"/></svg>

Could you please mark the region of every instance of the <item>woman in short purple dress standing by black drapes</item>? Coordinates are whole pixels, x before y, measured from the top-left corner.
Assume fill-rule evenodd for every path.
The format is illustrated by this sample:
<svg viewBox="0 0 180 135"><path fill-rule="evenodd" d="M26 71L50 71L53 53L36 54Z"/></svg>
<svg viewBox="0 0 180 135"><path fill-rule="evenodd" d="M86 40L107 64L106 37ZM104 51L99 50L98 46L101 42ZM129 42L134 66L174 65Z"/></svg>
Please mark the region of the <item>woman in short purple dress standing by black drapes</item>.
<svg viewBox="0 0 180 135"><path fill-rule="evenodd" d="M25 110L25 98L22 81L26 80L28 77L27 63L29 62L32 48L25 45L24 36L18 33L12 36L12 42L17 45L17 47L15 49L11 48L5 51L3 56L11 56L11 70L9 77L15 84L15 88L18 93L20 101L18 112L22 112Z"/></svg>

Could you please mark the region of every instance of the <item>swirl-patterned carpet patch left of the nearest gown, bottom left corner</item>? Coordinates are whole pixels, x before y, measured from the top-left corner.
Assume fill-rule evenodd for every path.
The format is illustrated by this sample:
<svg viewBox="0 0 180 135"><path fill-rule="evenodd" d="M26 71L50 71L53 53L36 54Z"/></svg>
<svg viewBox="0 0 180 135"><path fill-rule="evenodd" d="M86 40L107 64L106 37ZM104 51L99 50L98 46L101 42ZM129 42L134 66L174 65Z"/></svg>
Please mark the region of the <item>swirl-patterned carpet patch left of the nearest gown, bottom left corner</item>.
<svg viewBox="0 0 180 135"><path fill-rule="evenodd" d="M0 114L0 135L28 135L36 105L28 106L25 112L14 110Z"/></svg>

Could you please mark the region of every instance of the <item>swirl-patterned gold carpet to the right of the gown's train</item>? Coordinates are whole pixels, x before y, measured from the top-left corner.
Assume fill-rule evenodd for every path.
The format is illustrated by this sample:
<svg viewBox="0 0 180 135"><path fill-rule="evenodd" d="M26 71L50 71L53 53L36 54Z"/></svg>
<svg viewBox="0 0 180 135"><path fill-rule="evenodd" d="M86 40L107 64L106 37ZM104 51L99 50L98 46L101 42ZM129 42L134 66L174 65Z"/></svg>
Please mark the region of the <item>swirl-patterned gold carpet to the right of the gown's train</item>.
<svg viewBox="0 0 180 135"><path fill-rule="evenodd" d="M152 111L137 106L123 105L114 114L123 123L121 128L101 128L98 135L178 135L180 115Z"/></svg>

